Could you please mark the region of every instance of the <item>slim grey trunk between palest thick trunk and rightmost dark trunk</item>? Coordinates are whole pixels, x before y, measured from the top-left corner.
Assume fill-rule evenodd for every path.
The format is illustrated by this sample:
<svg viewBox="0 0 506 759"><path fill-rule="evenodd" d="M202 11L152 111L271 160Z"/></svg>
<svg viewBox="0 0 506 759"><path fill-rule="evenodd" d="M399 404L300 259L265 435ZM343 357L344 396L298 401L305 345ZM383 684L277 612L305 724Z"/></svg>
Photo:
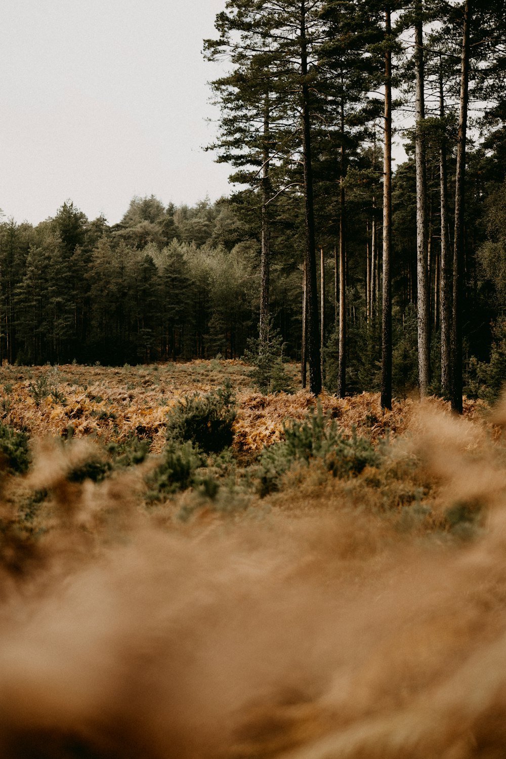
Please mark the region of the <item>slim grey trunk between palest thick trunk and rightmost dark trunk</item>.
<svg viewBox="0 0 506 759"><path fill-rule="evenodd" d="M445 117L445 93L443 90L442 56L439 57L439 118ZM451 259L448 235L448 168L445 130L442 129L439 147L439 190L441 197L441 390L444 396L450 394L450 332L452 312Z"/></svg>

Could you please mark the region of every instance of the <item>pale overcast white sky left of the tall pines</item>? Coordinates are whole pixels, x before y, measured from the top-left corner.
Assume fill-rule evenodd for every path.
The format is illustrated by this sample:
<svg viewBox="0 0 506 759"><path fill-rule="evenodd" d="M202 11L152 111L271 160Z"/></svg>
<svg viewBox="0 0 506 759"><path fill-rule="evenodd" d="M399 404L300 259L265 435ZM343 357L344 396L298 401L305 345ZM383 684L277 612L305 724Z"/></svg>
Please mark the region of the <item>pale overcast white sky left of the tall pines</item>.
<svg viewBox="0 0 506 759"><path fill-rule="evenodd" d="M134 195L228 194L202 146L204 61L225 0L2 0L0 208L36 224L70 198L118 222Z"/></svg>

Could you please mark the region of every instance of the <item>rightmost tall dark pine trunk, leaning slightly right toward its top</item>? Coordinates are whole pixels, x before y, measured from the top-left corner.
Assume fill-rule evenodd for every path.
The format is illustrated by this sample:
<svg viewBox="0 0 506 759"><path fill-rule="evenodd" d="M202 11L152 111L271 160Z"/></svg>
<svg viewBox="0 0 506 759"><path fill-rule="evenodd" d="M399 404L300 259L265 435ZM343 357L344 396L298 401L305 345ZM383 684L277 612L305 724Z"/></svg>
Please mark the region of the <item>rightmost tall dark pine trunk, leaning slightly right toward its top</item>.
<svg viewBox="0 0 506 759"><path fill-rule="evenodd" d="M455 176L455 232L453 272L453 320L451 325L451 408L462 414L462 290L464 285L464 189L466 181L466 133L469 86L470 0L464 2L462 57L460 60L460 111Z"/></svg>

